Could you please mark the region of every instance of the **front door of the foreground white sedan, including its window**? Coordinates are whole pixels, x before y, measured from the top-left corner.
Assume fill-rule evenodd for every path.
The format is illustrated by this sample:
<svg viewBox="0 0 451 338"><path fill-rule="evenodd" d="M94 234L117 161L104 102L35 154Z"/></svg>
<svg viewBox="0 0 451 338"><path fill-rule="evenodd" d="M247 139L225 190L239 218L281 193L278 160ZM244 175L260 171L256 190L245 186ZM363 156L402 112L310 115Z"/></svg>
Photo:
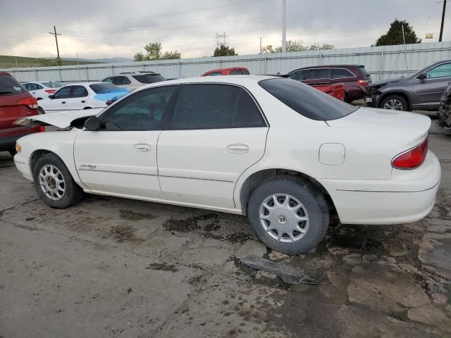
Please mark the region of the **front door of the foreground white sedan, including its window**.
<svg viewBox="0 0 451 338"><path fill-rule="evenodd" d="M74 144L80 180L94 193L163 199L156 142L178 85L145 89L109 107L99 130L83 130Z"/></svg>

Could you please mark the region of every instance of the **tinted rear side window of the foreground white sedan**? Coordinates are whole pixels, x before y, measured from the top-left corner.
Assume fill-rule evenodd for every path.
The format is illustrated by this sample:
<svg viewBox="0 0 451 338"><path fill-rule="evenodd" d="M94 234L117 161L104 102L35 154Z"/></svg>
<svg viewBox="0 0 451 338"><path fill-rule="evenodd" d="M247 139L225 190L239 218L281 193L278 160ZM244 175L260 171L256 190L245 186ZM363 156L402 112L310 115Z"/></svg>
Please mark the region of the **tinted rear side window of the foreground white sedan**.
<svg viewBox="0 0 451 338"><path fill-rule="evenodd" d="M173 118L173 130L264 126L259 108L240 87L185 84Z"/></svg>

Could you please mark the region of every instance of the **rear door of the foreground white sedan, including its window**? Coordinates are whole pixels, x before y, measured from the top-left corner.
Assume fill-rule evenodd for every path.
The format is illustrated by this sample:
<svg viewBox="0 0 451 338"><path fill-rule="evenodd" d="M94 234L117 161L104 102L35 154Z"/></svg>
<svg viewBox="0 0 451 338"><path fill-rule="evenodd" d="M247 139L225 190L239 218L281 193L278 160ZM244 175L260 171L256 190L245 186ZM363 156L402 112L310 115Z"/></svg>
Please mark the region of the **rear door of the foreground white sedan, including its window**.
<svg viewBox="0 0 451 338"><path fill-rule="evenodd" d="M252 96L229 84L183 84L158 142L161 191L182 204L234 208L238 177L260 160L268 125Z"/></svg>

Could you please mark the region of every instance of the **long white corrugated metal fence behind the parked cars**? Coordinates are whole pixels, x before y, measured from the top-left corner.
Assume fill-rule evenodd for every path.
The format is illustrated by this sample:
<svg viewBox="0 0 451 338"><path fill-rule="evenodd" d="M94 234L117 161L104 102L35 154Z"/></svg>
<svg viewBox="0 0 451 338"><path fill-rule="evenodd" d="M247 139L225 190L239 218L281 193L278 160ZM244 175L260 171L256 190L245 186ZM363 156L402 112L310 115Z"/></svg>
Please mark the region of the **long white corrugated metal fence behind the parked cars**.
<svg viewBox="0 0 451 338"><path fill-rule="evenodd" d="M207 70L224 67L247 67L251 74L288 73L309 65L365 65L373 81L416 73L436 61L451 59L451 42L429 42L397 46L330 49L278 54L254 54L185 58L180 60L130 63L97 63L61 67L7 69L19 81L58 80L61 82L99 81L113 74L154 71L163 77L196 77Z"/></svg>

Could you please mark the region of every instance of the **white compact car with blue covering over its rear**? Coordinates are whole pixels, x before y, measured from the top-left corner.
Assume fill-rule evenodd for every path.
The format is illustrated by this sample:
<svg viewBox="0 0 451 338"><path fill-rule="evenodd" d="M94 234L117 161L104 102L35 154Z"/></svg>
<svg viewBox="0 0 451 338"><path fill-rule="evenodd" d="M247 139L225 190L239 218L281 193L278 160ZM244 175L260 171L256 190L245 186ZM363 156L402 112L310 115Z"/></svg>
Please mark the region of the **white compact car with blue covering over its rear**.
<svg viewBox="0 0 451 338"><path fill-rule="evenodd" d="M61 111L79 111L80 109L104 108L128 94L127 89L104 82L80 82L58 89L47 99L38 101L39 114Z"/></svg>

